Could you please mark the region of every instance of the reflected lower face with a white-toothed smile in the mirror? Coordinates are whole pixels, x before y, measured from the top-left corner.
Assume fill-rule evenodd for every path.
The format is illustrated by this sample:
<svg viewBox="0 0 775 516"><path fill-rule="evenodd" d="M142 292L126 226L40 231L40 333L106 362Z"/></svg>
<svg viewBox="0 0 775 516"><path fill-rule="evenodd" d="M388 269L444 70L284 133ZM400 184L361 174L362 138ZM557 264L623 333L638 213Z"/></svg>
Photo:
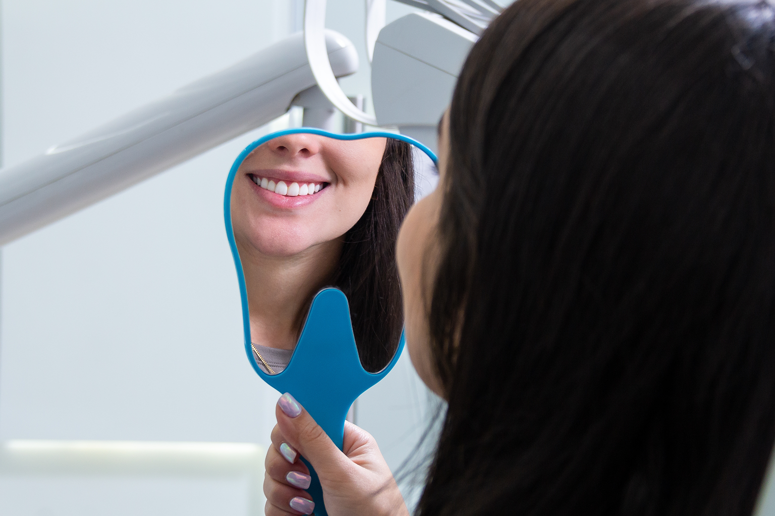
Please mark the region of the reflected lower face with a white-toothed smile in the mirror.
<svg viewBox="0 0 775 516"><path fill-rule="evenodd" d="M302 133L257 147L232 185L239 247L282 258L341 237L369 204L385 143Z"/></svg>

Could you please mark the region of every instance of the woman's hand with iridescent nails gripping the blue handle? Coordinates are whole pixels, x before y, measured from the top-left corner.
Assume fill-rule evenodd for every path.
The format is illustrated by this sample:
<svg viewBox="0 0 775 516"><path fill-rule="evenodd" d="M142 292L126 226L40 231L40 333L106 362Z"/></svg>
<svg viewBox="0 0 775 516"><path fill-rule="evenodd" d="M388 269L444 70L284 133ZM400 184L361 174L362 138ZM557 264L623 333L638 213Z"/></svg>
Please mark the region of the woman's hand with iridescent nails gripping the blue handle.
<svg viewBox="0 0 775 516"><path fill-rule="evenodd" d="M304 456L318 473L325 509L331 516L408 516L398 485L374 437L350 422L344 426L343 451L290 394L277 402L277 425L267 452L267 516L310 514L314 510L309 470Z"/></svg>

